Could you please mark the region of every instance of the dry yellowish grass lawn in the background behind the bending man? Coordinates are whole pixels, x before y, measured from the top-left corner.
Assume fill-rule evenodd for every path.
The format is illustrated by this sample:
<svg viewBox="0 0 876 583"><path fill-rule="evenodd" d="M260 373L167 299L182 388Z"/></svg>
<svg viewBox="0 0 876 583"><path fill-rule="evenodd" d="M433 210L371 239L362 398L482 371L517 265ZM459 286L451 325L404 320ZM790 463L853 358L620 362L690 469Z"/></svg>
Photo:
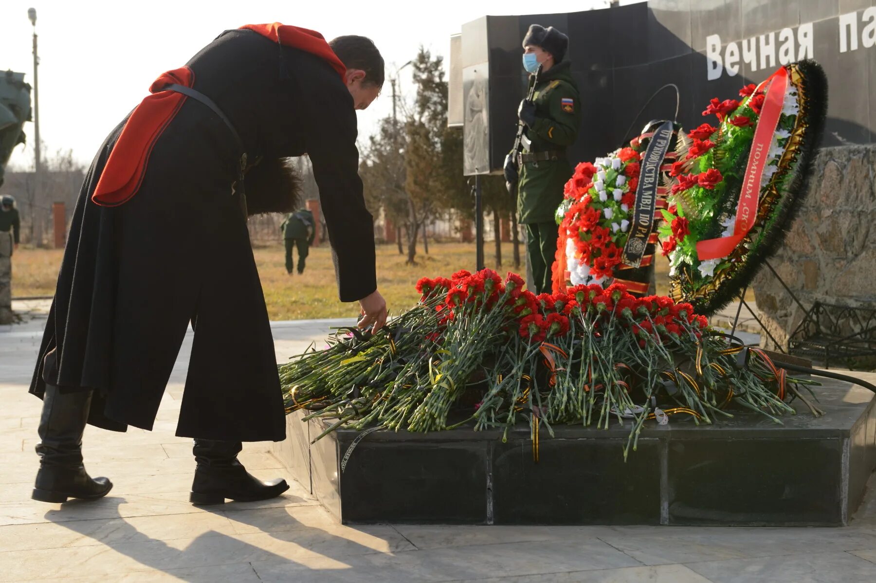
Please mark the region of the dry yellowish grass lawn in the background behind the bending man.
<svg viewBox="0 0 876 583"><path fill-rule="evenodd" d="M485 247L487 267L495 269L494 243L487 242ZM525 256L522 245L520 251ZM327 244L310 249L307 269L301 276L297 273L286 274L284 250L279 243L258 246L254 252L272 320L343 318L357 314L357 306L342 304L337 299L335 270ZM19 248L12 256L12 296L52 295L62 254L60 249ZM514 270L511 243L502 245L502 254L505 261L498 271L505 274L508 270ZM460 242L431 243L429 255L425 255L420 246L416 265L406 265L405 256L399 255L395 245L378 245L377 256L380 292L390 311L399 313L419 299L413 285L420 277L449 276L456 270L472 270L475 265L475 246ZM667 264L662 257L659 259L657 291L666 293ZM520 266L519 272L526 273L525 263Z"/></svg>

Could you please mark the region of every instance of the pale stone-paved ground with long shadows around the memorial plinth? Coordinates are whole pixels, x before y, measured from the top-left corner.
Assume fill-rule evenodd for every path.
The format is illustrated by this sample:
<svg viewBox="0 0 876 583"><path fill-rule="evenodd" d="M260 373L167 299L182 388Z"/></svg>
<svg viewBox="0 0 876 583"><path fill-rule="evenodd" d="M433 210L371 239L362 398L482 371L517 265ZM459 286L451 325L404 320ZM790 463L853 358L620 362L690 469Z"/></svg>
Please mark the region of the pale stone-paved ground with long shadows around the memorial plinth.
<svg viewBox="0 0 876 583"><path fill-rule="evenodd" d="M341 320L277 322L277 354L320 341ZM280 468L269 444L241 460L293 487L269 502L195 508L194 460L174 437L191 334L154 432L89 427L97 502L32 502L38 399L26 392L45 315L0 330L0 581L502 581L769 583L876 580L876 497L843 529L415 526L335 523ZM805 460L801 460L805 463ZM876 488L876 481L871 481Z"/></svg>

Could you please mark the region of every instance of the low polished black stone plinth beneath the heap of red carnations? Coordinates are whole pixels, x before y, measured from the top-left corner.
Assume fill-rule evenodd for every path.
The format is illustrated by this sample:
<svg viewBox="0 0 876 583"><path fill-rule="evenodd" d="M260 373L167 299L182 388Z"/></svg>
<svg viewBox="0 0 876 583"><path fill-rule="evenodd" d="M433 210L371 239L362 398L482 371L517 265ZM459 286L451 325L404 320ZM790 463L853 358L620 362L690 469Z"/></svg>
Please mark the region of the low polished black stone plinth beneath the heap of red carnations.
<svg viewBox="0 0 876 583"><path fill-rule="evenodd" d="M768 418L733 411L696 426L649 422L626 462L629 425L428 434L340 430L287 418L273 453L342 523L847 524L876 467L876 396L841 381L814 387L826 412Z"/></svg>

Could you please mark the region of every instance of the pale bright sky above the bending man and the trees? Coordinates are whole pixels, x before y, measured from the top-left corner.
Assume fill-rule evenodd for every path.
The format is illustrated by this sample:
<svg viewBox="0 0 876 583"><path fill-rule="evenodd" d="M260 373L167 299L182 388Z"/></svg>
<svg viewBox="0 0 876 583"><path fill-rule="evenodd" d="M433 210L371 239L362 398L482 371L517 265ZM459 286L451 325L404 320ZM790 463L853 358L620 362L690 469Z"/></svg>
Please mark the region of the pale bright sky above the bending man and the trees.
<svg viewBox="0 0 876 583"><path fill-rule="evenodd" d="M602 7L604 0L557 4L557 11ZM109 130L147 95L164 71L181 67L220 32L279 21L314 29L326 39L342 34L371 37L384 55L387 80L416 56L422 44L447 59L449 38L463 23L485 14L547 11L533 0L2 0L0 71L24 72L32 83L32 26L39 35L39 134L48 150L72 149L90 164ZM413 97L410 67L401 91ZM390 85L359 112L360 139L392 112ZM27 151L19 145L10 163L32 165L33 124L25 124Z"/></svg>

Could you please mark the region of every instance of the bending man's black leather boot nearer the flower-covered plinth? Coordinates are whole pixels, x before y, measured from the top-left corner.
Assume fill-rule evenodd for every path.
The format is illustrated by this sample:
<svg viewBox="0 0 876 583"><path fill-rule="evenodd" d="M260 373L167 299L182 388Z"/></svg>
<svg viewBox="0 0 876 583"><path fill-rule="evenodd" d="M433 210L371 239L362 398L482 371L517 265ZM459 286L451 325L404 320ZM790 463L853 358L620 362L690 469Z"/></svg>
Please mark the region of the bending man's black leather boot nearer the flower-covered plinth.
<svg viewBox="0 0 876 583"><path fill-rule="evenodd" d="M194 470L192 493L193 504L223 504L226 498L241 502L267 500L286 492L289 484L279 478L261 481L246 471L237 460L243 449L239 441L194 440Z"/></svg>

